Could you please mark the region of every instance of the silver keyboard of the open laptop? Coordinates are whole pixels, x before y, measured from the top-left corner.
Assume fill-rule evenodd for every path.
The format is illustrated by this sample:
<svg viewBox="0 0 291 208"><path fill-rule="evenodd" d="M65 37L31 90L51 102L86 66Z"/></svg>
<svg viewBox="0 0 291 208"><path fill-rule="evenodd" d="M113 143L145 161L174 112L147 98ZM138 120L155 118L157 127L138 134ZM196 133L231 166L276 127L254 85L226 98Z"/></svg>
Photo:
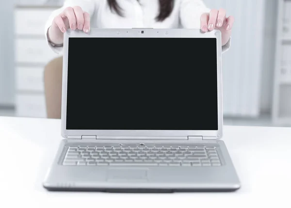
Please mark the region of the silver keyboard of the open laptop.
<svg viewBox="0 0 291 208"><path fill-rule="evenodd" d="M100 145L68 147L63 165L221 166L215 147L197 145Z"/></svg>

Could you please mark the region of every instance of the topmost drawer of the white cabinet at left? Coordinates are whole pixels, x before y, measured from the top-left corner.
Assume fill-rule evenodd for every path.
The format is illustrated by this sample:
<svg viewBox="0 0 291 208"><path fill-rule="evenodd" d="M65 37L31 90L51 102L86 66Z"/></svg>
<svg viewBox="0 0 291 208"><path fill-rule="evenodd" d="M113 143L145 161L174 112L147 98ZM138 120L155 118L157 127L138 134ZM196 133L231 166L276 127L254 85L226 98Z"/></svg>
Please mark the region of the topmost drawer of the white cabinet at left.
<svg viewBox="0 0 291 208"><path fill-rule="evenodd" d="M57 9L57 8L55 8ZM45 35L45 24L54 8L16 9L15 31L17 35Z"/></svg>

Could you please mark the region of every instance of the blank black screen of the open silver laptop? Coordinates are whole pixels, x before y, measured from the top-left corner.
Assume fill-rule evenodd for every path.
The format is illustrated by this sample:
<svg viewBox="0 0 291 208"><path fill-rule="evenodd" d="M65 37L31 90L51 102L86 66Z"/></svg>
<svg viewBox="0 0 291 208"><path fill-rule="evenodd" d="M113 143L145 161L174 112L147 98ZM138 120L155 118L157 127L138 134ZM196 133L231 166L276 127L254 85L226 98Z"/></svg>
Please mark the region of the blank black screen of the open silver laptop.
<svg viewBox="0 0 291 208"><path fill-rule="evenodd" d="M66 129L218 130L215 38L69 38Z"/></svg>

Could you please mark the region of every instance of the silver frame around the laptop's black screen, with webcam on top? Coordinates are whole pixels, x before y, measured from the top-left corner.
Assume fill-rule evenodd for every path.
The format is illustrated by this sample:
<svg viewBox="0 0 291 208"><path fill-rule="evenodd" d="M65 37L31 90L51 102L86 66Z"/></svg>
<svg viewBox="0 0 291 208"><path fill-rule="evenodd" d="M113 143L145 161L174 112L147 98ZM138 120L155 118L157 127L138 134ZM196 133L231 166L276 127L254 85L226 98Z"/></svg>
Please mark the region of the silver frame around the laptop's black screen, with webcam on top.
<svg viewBox="0 0 291 208"><path fill-rule="evenodd" d="M144 31L142 33L142 31ZM133 38L216 38L217 48L217 106L218 130L93 130L93 129L66 129L66 104L67 104L67 65L68 65L68 40L78 37L133 37ZM203 70L203 69L201 69ZM63 84L62 84L62 127L61 134L64 138L81 137L82 135L96 135L97 137L179 137L188 136L216 137L223 136L223 101L222 101L222 46L221 32L201 32L199 29L91 29L89 33L79 30L67 30L64 34L63 52ZM90 98L88 98L90 100ZM202 102L202 101L201 101ZM195 118L193 118L195 119Z"/></svg>

